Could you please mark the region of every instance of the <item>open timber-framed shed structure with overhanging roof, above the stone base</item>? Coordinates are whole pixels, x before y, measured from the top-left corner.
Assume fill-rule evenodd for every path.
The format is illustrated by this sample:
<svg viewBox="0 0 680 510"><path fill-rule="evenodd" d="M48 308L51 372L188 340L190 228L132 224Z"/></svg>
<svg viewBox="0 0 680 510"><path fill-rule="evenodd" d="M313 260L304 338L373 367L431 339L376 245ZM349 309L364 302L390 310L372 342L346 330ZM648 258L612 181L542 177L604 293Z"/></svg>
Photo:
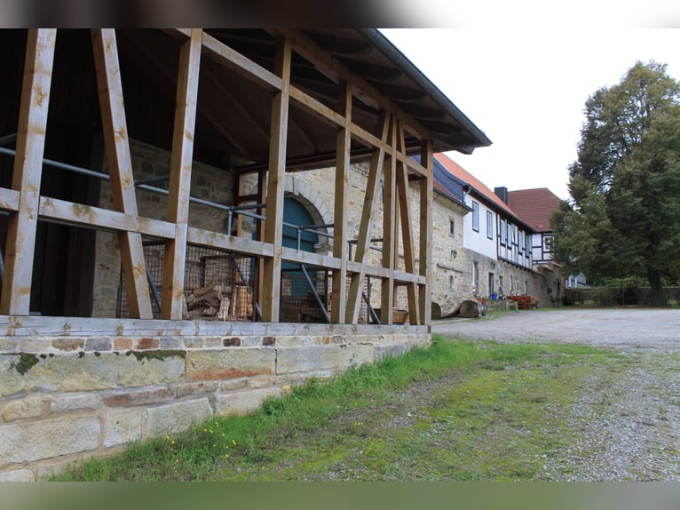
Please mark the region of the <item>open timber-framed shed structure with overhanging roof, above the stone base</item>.
<svg viewBox="0 0 680 510"><path fill-rule="evenodd" d="M45 222L115 232L132 320L153 318L153 296L142 251L142 239L150 238L164 244L160 291L163 322L185 318L185 259L186 247L191 244L257 259L253 299L258 313L253 314L254 322L280 321L281 266L295 263L332 275L331 326L358 323L362 283L371 277L380 281L379 319L383 331L391 331L384 328L393 323L398 287L407 290L409 327L415 331L428 328L432 154L443 150L470 153L490 142L379 32L372 29L7 32L10 33L2 39L5 52L23 52L24 63L20 69L23 81L18 91L18 122L14 130L9 127L12 118L8 112L12 110L5 105L2 128L7 132L0 132L4 138L0 158L5 169L12 165L12 171L5 171L11 174L11 179L0 183L0 210L6 217L0 298L4 322L11 324L20 317L28 319L28 315L50 315L31 306L31 293L36 290L36 245L40 243L36 229ZM63 50L59 50L61 38L65 39ZM83 41L88 43L88 49L83 49ZM97 92L92 95L93 104L99 102L99 116L76 112L87 117L86 122L75 118L77 115L68 117L67 100L69 93L75 92L64 91L79 85L75 82L79 76L74 74L74 83L69 85L67 56L55 54L55 50L66 53L71 47L82 50L83 60L89 58L91 48L93 57ZM126 68L121 65L123 59ZM130 68L150 76L149 81L157 87L154 90L166 95L174 91L171 122L165 116L165 124L172 126L171 136L168 133L160 137L170 140L171 151L164 219L138 213L130 157L130 137L135 130L130 124L140 125L142 121L135 117L142 114L138 103L130 107L129 93L123 85L122 75L129 74ZM14 71L9 76L16 76L19 71L17 66L9 70ZM52 78L57 74L60 83L55 89ZM80 92L86 96L87 90L85 87ZM0 100L16 98L16 94L12 96L12 87L6 86ZM152 118L151 122L156 120ZM160 120L157 122L161 124ZM45 147L49 146L52 132L58 131L61 124L78 123L79 129L87 123L96 124L103 137L108 174L82 179L109 182L111 207L41 192L41 179L49 163L45 161ZM151 128L146 128L144 132L150 131ZM195 143L201 140L202 153L197 154ZM13 150L6 148L7 141L14 142ZM233 235L231 231L215 232L189 225L193 161L217 152L230 156L225 179L235 179L239 190L230 205L237 208L259 204L254 238L238 235L238 228ZM419 155L420 163L412 155ZM357 161L369 162L368 187L361 199L359 232L352 233L345 228L350 194L348 174L351 163ZM328 255L299 251L281 243L286 174L312 167L328 168L328 179L333 180L335 187L332 253ZM257 176L257 193L242 195L240 179L249 175ZM381 187L383 222L374 226L372 216ZM418 218L412 217L409 187L415 187L419 195ZM417 238L413 221L418 227ZM382 236L382 256L378 265L371 265L369 243L376 234ZM356 246L352 257L350 242ZM397 267L399 250L403 251L402 270ZM85 283L87 279L80 285ZM85 316L82 311L79 314ZM77 314L70 316L74 315ZM69 316L68 311L62 316ZM30 319L32 323L49 322L45 316ZM82 321L81 327L83 331L98 331L94 319ZM394 331L406 330L400 327Z"/></svg>

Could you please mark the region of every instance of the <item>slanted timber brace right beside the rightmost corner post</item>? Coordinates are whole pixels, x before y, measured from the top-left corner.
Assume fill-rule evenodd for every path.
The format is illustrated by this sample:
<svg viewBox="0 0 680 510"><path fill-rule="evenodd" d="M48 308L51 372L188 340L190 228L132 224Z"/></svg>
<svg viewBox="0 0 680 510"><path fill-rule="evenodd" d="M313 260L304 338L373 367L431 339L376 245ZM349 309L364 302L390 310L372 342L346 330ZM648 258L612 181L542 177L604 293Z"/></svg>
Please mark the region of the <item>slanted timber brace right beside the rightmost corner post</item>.
<svg viewBox="0 0 680 510"><path fill-rule="evenodd" d="M403 153L406 149L404 141L404 131L399 125L398 151ZM413 228L411 223L411 201L408 197L408 170L407 166L401 161L397 161L397 198L399 203L399 219L401 219L401 239L402 248L404 250L404 268L407 273L415 272L415 251L413 243ZM407 299L408 299L408 322L412 324L420 323L419 309L417 302L417 292L415 285L409 283L407 285Z"/></svg>

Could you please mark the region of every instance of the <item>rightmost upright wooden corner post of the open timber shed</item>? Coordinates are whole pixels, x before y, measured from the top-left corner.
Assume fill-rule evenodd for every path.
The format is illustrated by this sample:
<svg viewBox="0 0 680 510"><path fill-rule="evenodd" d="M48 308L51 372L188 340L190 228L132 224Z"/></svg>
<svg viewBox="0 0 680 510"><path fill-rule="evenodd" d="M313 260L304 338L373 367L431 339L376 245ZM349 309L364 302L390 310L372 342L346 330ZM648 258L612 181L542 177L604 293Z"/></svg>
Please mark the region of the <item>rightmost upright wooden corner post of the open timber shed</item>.
<svg viewBox="0 0 680 510"><path fill-rule="evenodd" d="M425 284L418 285L418 304L420 305L421 324L430 326L432 312L432 202L433 161L432 142L423 141L420 161L428 175L420 181L420 275L426 278Z"/></svg>

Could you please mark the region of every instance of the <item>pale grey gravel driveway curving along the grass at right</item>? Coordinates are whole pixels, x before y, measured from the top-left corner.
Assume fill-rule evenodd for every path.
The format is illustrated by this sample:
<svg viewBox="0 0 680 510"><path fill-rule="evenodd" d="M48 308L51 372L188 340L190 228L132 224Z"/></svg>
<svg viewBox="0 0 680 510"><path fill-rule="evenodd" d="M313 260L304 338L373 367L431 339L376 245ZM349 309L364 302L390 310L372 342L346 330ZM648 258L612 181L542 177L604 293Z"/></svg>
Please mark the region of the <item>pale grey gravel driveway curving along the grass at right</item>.
<svg viewBox="0 0 680 510"><path fill-rule="evenodd" d="M596 371L585 381L570 419L579 439L546 458L541 478L680 481L680 310L527 311L440 321L432 332L620 351L621 370Z"/></svg>

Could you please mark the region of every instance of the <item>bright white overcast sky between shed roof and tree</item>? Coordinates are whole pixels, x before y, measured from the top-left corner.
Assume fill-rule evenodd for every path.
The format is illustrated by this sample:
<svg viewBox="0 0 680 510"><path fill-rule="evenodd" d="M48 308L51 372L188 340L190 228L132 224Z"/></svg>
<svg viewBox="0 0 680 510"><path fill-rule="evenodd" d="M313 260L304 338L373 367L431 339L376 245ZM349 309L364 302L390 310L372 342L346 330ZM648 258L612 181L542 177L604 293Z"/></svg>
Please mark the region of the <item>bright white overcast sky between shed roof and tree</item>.
<svg viewBox="0 0 680 510"><path fill-rule="evenodd" d="M501 21L381 31L493 142L472 155L448 153L456 163L491 189L548 187L567 199L586 100L637 60L668 64L680 79L680 29Z"/></svg>

